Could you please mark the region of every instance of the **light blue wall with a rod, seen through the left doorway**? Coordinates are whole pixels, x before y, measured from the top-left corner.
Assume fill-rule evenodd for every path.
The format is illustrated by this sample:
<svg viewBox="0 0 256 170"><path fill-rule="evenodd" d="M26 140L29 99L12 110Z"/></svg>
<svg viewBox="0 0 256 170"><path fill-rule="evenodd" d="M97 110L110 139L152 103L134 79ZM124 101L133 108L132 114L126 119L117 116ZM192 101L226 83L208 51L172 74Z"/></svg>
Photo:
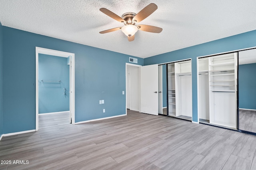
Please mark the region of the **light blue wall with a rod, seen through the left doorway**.
<svg viewBox="0 0 256 170"><path fill-rule="evenodd" d="M38 112L69 111L69 65L66 57L38 55ZM41 80L60 80L42 82ZM64 95L64 88L66 89Z"/></svg>

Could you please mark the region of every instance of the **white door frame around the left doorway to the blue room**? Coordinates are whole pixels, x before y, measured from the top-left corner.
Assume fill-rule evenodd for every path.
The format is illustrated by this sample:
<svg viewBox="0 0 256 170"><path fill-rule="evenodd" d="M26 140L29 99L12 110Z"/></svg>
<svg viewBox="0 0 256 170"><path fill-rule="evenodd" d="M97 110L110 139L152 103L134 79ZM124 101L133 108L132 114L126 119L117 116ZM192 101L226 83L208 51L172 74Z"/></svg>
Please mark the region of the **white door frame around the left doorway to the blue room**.
<svg viewBox="0 0 256 170"><path fill-rule="evenodd" d="M67 53L63 51L56 51L52 49L45 49L36 47L36 131L38 131L38 54L54 55L60 57L69 57L70 60L70 113L72 121L70 123L75 124L75 54Z"/></svg>

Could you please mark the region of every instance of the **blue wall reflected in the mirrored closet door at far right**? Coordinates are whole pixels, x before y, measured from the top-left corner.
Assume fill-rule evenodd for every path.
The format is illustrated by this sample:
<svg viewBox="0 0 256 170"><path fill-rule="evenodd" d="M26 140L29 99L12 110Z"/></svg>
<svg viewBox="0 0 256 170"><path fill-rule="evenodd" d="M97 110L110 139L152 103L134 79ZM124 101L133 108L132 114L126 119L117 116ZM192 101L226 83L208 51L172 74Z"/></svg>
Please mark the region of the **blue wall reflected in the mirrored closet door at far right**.
<svg viewBox="0 0 256 170"><path fill-rule="evenodd" d="M242 64L238 68L239 108L256 109L256 63Z"/></svg>

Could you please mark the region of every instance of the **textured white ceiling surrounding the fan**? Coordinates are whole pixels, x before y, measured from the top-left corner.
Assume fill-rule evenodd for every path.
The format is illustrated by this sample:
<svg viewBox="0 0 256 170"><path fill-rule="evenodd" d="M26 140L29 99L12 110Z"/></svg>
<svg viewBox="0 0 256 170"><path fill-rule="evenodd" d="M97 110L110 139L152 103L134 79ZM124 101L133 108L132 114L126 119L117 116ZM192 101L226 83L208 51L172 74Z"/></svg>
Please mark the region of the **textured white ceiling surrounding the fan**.
<svg viewBox="0 0 256 170"><path fill-rule="evenodd" d="M123 26L100 12L138 13L150 3L158 9L140 24L161 33L138 31L129 42ZM0 0L2 25L116 51L150 57L256 29L256 0Z"/></svg>

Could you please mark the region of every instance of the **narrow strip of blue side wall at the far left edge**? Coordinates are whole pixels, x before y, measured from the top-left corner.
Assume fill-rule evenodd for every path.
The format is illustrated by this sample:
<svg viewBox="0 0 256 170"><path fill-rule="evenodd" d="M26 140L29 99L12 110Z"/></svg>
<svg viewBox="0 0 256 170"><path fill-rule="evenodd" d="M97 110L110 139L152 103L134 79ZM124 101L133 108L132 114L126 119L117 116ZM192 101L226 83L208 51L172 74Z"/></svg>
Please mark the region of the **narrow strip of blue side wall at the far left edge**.
<svg viewBox="0 0 256 170"><path fill-rule="evenodd" d="M0 136L3 134L3 109L2 109L2 104L3 104L3 55L2 55L2 51L3 51L3 43L2 43L2 24L0 22Z"/></svg>

